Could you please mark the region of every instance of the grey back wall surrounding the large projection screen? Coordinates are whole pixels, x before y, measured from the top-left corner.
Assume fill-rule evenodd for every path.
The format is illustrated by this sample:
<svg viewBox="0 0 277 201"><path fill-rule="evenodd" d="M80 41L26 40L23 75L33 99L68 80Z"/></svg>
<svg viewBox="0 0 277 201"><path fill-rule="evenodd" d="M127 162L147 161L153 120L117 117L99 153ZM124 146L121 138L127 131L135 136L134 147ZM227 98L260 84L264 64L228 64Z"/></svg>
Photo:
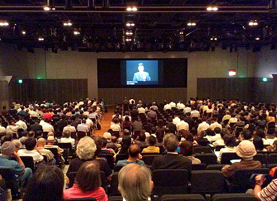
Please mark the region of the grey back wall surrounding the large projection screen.
<svg viewBox="0 0 277 201"><path fill-rule="evenodd" d="M265 55L265 56L264 56ZM138 94L146 100L151 94L150 89L145 94L141 94L141 88L133 88L131 91L120 89L120 92L111 94L103 92L97 86L97 58L188 58L187 67L187 89L186 94L179 93L176 88L169 89L170 93L175 93L174 100L185 100L185 98L195 97L197 93L197 78L219 78L229 77L228 70L236 69L237 77L263 77L262 66L270 67L276 63L276 50L271 51L268 47L259 53L238 49L238 52L229 53L229 50L217 49L215 52L78 52L59 51L58 54L50 50L45 52L42 49L35 49L35 53L16 51L12 45L0 45L0 67L3 68L4 75L13 75L13 79L88 79L88 96L90 98L103 97L109 104L115 104L124 96ZM265 60L264 58L267 58ZM266 65L264 65L265 63ZM260 69L260 70L256 70ZM177 69L176 69L177 70ZM270 70L272 71L272 70ZM153 89L156 90L156 89ZM153 99L164 99L168 92L161 90L152 96ZM176 98L176 99L175 99Z"/></svg>

